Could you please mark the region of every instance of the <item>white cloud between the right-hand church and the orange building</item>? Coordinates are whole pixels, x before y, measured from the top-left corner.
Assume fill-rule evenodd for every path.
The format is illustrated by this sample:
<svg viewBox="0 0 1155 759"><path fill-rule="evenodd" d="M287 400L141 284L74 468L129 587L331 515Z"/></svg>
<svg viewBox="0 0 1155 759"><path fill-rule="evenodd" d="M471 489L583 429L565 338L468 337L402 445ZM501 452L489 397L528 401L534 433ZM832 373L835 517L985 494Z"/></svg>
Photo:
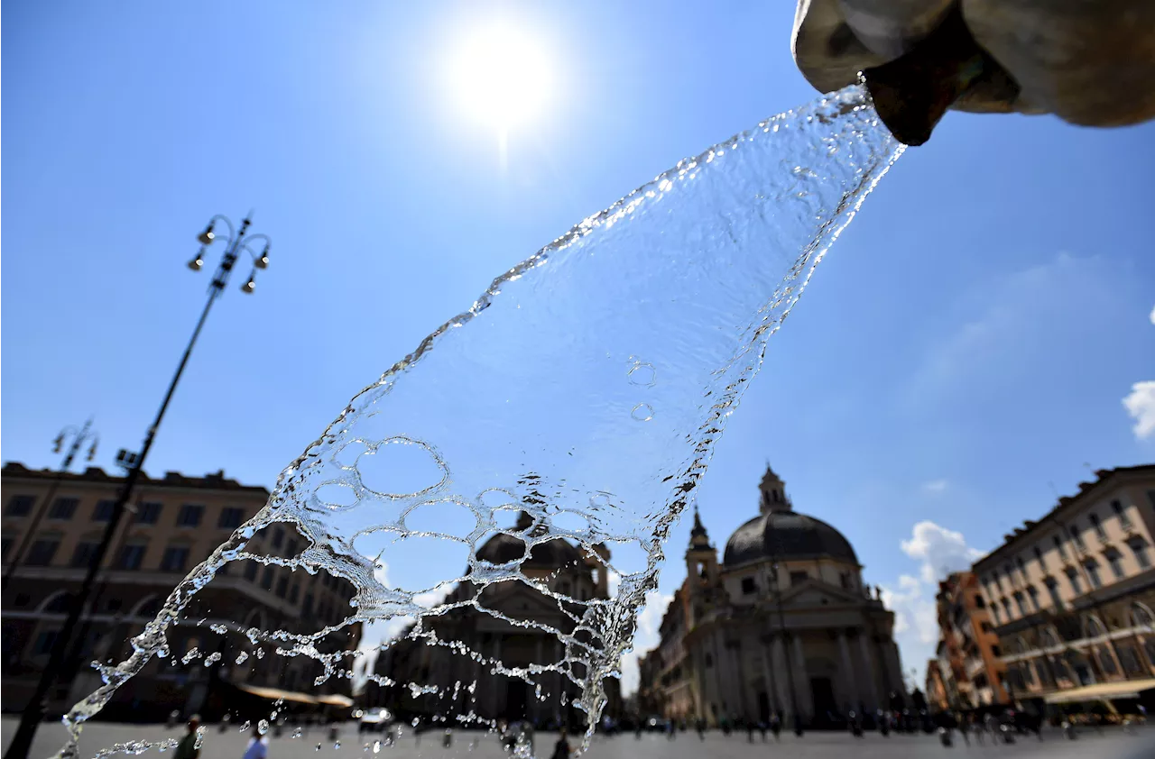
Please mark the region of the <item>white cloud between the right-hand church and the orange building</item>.
<svg viewBox="0 0 1155 759"><path fill-rule="evenodd" d="M938 642L934 606L938 580L949 572L969 569L982 551L968 546L961 532L930 520L916 524L910 539L900 546L902 553L918 562L918 577L900 574L896 583L879 587L882 602L894 613L894 639L902 652L903 666L908 671L916 668L921 678ZM922 687L921 679L918 686Z"/></svg>

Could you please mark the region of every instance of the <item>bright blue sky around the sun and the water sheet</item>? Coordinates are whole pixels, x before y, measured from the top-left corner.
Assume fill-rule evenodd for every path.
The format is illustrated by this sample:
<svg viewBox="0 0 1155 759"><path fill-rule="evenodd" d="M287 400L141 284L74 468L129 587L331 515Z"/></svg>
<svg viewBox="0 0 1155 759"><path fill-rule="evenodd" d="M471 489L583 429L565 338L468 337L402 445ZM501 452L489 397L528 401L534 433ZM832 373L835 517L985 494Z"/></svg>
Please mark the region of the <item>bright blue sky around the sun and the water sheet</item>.
<svg viewBox="0 0 1155 759"><path fill-rule="evenodd" d="M444 76L454 40L495 17L556 68L504 161ZM89 414L97 464L139 445L203 302L193 238L255 208L273 264L254 296L239 276L218 303L148 468L271 486L497 273L814 97L791 20L757 2L5 6L0 459L54 464L57 430ZM1153 138L949 114L908 151L716 449L699 503L720 547L769 459L891 589L910 668L930 651L931 574L1087 465L1155 460L1122 403L1155 380ZM1137 414L1155 413L1146 393Z"/></svg>

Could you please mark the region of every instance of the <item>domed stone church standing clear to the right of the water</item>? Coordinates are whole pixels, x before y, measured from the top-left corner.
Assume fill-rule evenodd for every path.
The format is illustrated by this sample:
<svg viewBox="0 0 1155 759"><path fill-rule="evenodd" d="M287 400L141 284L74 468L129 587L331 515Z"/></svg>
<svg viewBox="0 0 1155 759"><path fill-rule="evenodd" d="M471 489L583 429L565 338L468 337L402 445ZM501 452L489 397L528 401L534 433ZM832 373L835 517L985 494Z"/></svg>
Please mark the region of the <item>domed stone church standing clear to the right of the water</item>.
<svg viewBox="0 0 1155 759"><path fill-rule="evenodd" d="M759 513L717 549L695 511L686 580L640 662L639 709L668 717L839 726L906 700L894 614L850 542L793 510L767 466Z"/></svg>

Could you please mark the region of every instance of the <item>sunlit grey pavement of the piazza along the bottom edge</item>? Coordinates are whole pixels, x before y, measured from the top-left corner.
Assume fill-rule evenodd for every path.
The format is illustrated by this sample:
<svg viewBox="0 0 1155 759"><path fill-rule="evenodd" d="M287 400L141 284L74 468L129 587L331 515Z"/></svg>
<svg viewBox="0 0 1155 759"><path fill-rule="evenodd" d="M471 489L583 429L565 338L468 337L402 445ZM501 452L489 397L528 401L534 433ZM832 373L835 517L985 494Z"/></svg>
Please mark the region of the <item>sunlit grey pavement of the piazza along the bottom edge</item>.
<svg viewBox="0 0 1155 759"><path fill-rule="evenodd" d="M15 730L13 716L0 720L0 750L8 745ZM240 759L249 734L239 734L237 728L219 734L215 726L209 726L201 759ZM32 756L37 759L49 757L61 744L64 729L58 724L45 726L37 735ZM163 726L129 726L94 723L85 728L81 742L82 756L88 759L96 751L111 746L113 743L147 738L161 739L167 736L179 737L179 731L165 730ZM365 737L358 736L356 726L349 723L341 730L341 747L334 749L333 742L319 739L326 736L323 730L314 728L308 737L290 738L286 730L281 738L269 739L269 759L504 759L505 753L495 738L478 731L459 731L454 735L453 746L441 746L440 736L435 732L424 732L420 742L407 731L393 747L380 749L373 754L372 747L366 749ZM956 736L957 737L957 736ZM1044 732L1044 741L1020 739L1014 745L984 746L976 745L971 737L969 747L956 743L947 749L939 745L934 736L895 736L884 738L867 734L862 739L833 732L810 732L803 738L792 735L783 736L777 744L746 742L745 735L733 734L725 737L721 734L708 734L700 742L693 732L679 734L677 739L668 741L658 735L643 735L641 739L631 735L619 735L611 738L594 739L587 754L590 759L701 759L717 757L718 759L753 759L755 757L804 757L832 759L882 759L922 757L1030 757L1059 759L1065 757L1141 757L1155 756L1155 728L1148 727L1133 735L1124 735L1119 730L1105 730L1103 735L1094 731L1081 734L1078 741L1064 741L1055 732ZM538 734L536 741L537 756L549 759L553 750L556 736ZM476 741L476 745L471 744ZM151 753L151 752L150 752ZM122 756L122 754L121 754ZM149 754L142 754L148 757ZM159 754L152 754L159 756Z"/></svg>

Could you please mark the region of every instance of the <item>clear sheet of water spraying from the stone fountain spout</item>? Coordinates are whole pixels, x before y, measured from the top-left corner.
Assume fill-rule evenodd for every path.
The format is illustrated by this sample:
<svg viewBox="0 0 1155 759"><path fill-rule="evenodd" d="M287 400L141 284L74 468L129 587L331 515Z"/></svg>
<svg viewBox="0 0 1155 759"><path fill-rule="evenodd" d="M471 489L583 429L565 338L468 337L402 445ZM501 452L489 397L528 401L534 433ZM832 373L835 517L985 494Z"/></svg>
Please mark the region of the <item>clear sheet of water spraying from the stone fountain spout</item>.
<svg viewBox="0 0 1155 759"><path fill-rule="evenodd" d="M359 392L282 472L267 506L172 592L135 653L99 668L105 685L65 717L73 735L154 657L187 666L169 655L165 631L196 624L193 598L222 565L251 555L258 531L291 523L310 543L297 556L252 555L344 578L356 598L343 622L311 633L240 630L261 655L311 656L321 678L345 677L362 655L340 645L350 625L413 618L409 636L419 638L423 619L450 607L500 614L485 608L482 588L527 583L565 609L565 629L549 630L561 641L557 662L519 669L491 652L455 652L530 683L560 672L594 717L588 744L603 681L618 676L656 586L663 541L767 339L902 149L850 87L679 161L498 277ZM308 360L306 348L297 360ZM531 528L513 525L521 511ZM474 549L501 531L531 546L564 539L584 555L604 543L616 593L564 602L516 561L479 561ZM467 574L464 591L439 604ZM459 711L450 723L476 720ZM61 750L75 753L75 743Z"/></svg>

